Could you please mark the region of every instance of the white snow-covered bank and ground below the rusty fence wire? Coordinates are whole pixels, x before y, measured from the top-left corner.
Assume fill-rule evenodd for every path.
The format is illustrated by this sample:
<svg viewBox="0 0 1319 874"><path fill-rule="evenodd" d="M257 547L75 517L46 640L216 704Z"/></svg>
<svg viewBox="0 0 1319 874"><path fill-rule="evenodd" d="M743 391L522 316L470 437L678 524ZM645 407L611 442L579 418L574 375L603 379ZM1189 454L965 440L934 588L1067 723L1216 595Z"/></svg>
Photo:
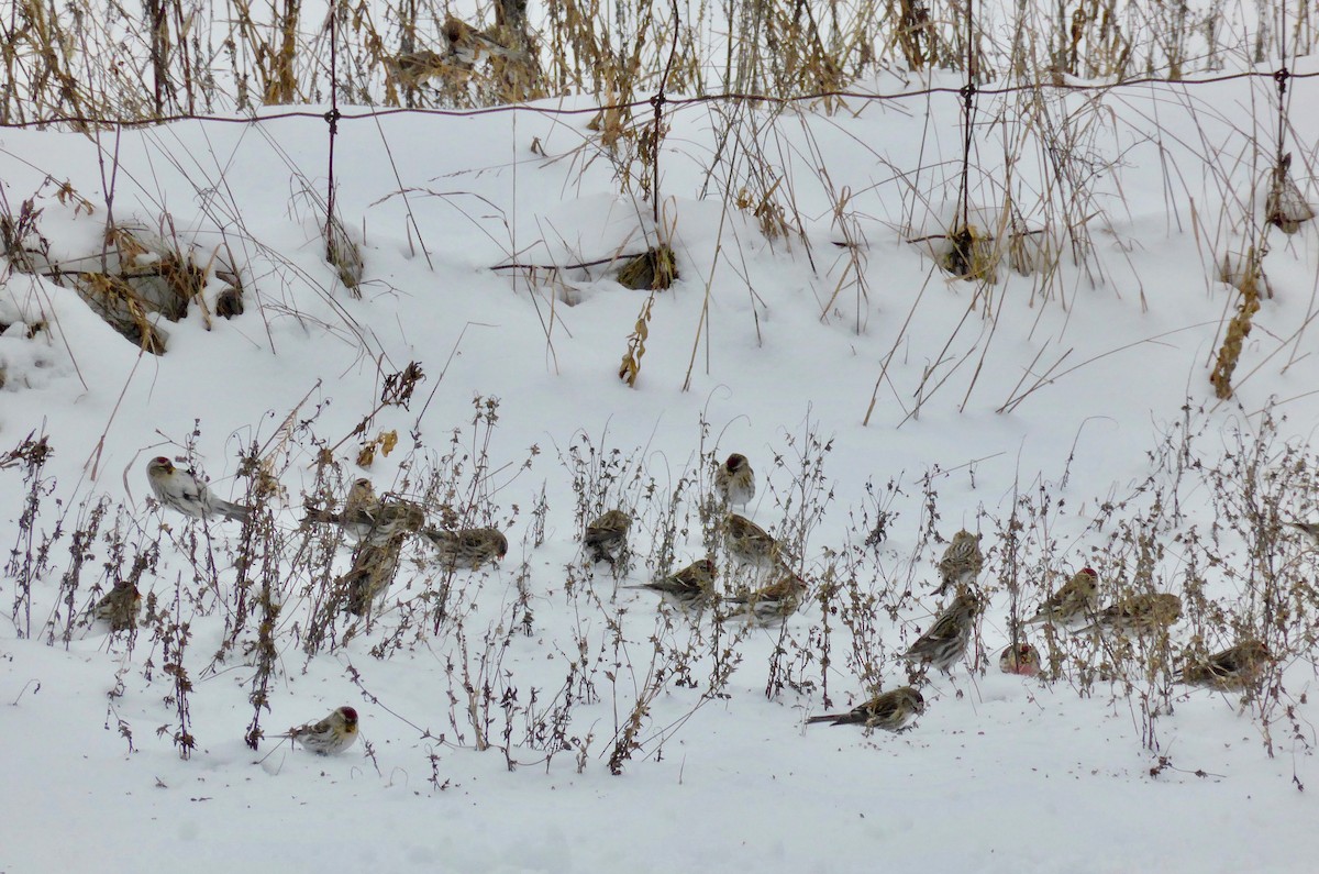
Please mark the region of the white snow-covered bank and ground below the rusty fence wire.
<svg viewBox="0 0 1319 874"><path fill-rule="evenodd" d="M5 211L40 191L53 260L100 252L112 185L117 222L160 228L168 215L203 264L227 243L248 297L235 319L207 325L194 305L183 321L160 321L169 351L153 356L69 288L0 260L0 322L12 325L0 337L0 452L33 430L54 450L30 543L22 466L0 470L0 543L15 551L3 577L15 607L0 623L11 750L0 870L1311 870L1315 804L1298 788L1316 778L1307 692L1319 607L1298 595L1293 619L1268 624L1264 572L1232 523L1240 492L1232 477L1215 487L1206 473L1261 445L1265 504L1282 519L1319 518L1312 223L1290 238L1270 230L1275 296L1254 317L1237 395L1217 403L1208 383L1239 300L1216 265L1249 246L1242 232L1264 201L1272 145L1254 156L1246 121L1272 129L1268 94L1268 82L1228 82L1047 95L1050 118L1070 119L1074 166L1093 173L1071 193L1092 217L1095 248L1084 267L1062 259L1049 281L1004 264L988 285L948 279L905 242L942 232L952 214L955 95L794 110L773 127L762 118L780 202L805 224L805 238L773 242L720 194L748 170L731 165L740 157L715 157L719 119L687 107L661 164L681 279L656 297L634 388L617 370L644 292L605 268L563 272L563 293L545 271L533 286L526 271L491 269L638 252L653 236L650 205L619 194L615 165L586 131L590 115L342 123L338 207L363 247L360 300L323 261L321 214L306 194L324 193L318 118L174 124L99 143L7 131ZM1062 222L1057 206L1031 201L1049 177L1020 112L983 107L985 119L1013 121L985 127L972 199L1001 205L1010 143L1021 158L1010 193L1028 224ZM1293 120L1295 141L1312 143L1319 121ZM1294 164L1311 202L1314 157ZM42 186L47 174L67 180L91 214ZM843 186L851 199L836 219ZM859 240L864 288L849 250L834 244L844 232ZM212 279L208 304L218 292ZM29 339L37 321L47 327ZM386 407L355 436L384 376L408 362L426 374L410 408ZM472 424L475 396L499 400L493 426ZM183 457L194 422L194 462L219 494L241 499L239 454L253 442L285 490L256 556L276 568L284 605L260 716L270 737L257 751L244 745L257 623L232 619L240 525L191 523L146 500L146 459ZM363 442L389 430L397 448L355 467ZM1183 433L1179 466L1169 448ZM575 465L572 448L594 448L596 471L616 478L586 477L579 495L574 473L590 465ZM336 643L305 652L326 585L306 557L321 532L299 528L321 450L343 481L369 475L381 491L429 498L452 482L471 498L468 518L508 533L497 569L448 581L438 632L425 593L446 580L417 544L369 630L335 617ZM624 585L658 570L666 531L677 529L677 562L704 555L696 496L710 458L729 452L745 453L761 478L751 515L805 532L813 593L832 578L878 606L826 617L815 601L782 630L725 623L716 640L708 617L694 626L584 566L579 498L588 514L615 503L634 511ZM1283 475L1285 458L1299 467ZM103 495L109 514L83 547L79 577L70 539ZM127 512L108 536L117 504ZM1024 528L1009 548L1014 507ZM880 508L892 514L888 537L871 548ZM876 683L906 683L897 654L938 610L934 566L962 527L983 533L988 553L979 631L988 671L962 664L931 677L926 713L897 735L807 730L807 716L848 709ZM1121 671L1129 687L1096 679L1072 661L1093 651L1066 640L1068 660L1051 681L997 671L1010 636L1008 580L1021 586L1024 613L1058 574L1086 565L1112 597L1137 572L1132 532L1158 547L1154 588L1203 582L1204 603L1268 635L1281 651L1268 693L1240 706L1132 664ZM1312 584L1315 551L1273 535L1272 578L1287 590ZM50 558L32 581L29 618L22 557L44 537ZM75 615L63 643L63 598L73 591L80 613L113 578L107 562L131 565L153 544L142 590L173 619L129 639ZM340 545L336 573L350 556ZM733 566L718 557L732 590ZM174 741L177 684L164 669L170 622L191 635L182 665L197 747L186 760ZM1171 632L1174 660L1196 635L1211 650L1231 643L1227 624L1188 610ZM736 669L707 696L721 646ZM645 689L654 697L638 746L611 775ZM274 734L340 704L361 713L367 743L335 758L277 745Z"/></svg>

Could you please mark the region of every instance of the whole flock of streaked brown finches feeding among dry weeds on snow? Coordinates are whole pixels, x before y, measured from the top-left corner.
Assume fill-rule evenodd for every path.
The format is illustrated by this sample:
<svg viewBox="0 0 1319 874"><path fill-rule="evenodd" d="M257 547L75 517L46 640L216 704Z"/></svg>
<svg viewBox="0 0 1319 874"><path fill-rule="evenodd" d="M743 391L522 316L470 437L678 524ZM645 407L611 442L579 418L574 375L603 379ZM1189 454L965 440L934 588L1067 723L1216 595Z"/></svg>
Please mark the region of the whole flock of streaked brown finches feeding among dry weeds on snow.
<svg viewBox="0 0 1319 874"><path fill-rule="evenodd" d="M191 470L175 466L169 458L157 457L146 465L146 475L156 499L194 519L232 519L247 521L251 508L223 500ZM715 491L728 510L720 520L720 533L728 553L743 565L773 574L774 581L743 589L731 595L720 594L715 581L718 568L711 557L698 558L686 568L665 577L628 589L660 593L685 613L702 611L721 605L720 619L745 617L758 623L782 622L803 603L809 585L790 568L781 541L751 519L731 511L745 507L756 496L756 475L745 455L733 453L719 465L714 477ZM347 609L367 615L372 603L393 581L401 551L410 536L421 536L435 547L439 560L448 568L479 569L497 562L508 553L508 539L496 528L446 529L429 524L425 507L397 496L380 498L369 479L357 479L338 510L307 503L305 523L334 524L357 543L352 568L339 578L348 591ZM1319 523L1289 523L1319 544ZM586 528L583 547L592 562L613 566L624 555L632 518L623 510L608 510ZM984 606L975 590L975 581L984 566L980 537L969 531L954 535L938 564L939 588L935 595L952 593L952 602L930 627L902 654L913 665L913 683L923 680L927 669L951 672L967 652L975 622ZM108 622L111 630L136 626L141 610L141 593L127 581L115 584L92 607L96 619ZM1150 635L1174 624L1182 614L1182 601L1169 593L1136 593L1108 606L1099 605L1099 574L1083 568L1072 574L1039 605L1022 624L1051 624L1072 634L1120 631ZM1273 663L1273 655L1257 639L1249 638L1216 652L1203 661L1190 663L1175 672L1174 680L1220 690L1241 690L1256 684ZM1039 655L1025 640L1009 644L998 657L1006 673L1035 676ZM864 725L868 729L898 731L925 712L925 698L913 685L877 694L845 713L816 716L809 723ZM357 712L340 706L323 720L309 722L278 735L297 741L321 754L342 753L356 741Z"/></svg>

